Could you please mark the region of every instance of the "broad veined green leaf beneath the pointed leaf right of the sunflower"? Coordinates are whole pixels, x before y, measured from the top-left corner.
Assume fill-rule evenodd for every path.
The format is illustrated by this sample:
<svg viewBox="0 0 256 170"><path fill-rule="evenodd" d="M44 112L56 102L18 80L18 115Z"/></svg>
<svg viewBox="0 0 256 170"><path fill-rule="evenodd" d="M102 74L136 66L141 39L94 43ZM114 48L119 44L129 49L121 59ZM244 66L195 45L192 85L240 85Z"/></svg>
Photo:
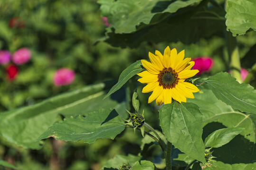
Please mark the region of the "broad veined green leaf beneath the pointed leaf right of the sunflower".
<svg viewBox="0 0 256 170"><path fill-rule="evenodd" d="M240 133L246 139L256 143L256 115L244 114L234 110L231 106L221 102L209 89L199 86L199 92L194 93L194 99L188 99L199 106L203 115L203 126L210 122L220 122L226 127L241 127L244 130Z"/></svg>

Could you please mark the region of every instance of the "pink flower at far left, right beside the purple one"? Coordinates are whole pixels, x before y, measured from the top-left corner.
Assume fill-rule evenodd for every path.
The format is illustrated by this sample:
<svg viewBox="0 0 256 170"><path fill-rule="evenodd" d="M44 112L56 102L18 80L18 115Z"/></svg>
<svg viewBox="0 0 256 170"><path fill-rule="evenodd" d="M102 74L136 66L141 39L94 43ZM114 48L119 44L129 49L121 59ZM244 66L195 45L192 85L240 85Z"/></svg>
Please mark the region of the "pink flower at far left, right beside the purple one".
<svg viewBox="0 0 256 170"><path fill-rule="evenodd" d="M14 52L12 56L12 61L17 65L22 65L29 61L31 57L30 50L27 48L21 48Z"/></svg>

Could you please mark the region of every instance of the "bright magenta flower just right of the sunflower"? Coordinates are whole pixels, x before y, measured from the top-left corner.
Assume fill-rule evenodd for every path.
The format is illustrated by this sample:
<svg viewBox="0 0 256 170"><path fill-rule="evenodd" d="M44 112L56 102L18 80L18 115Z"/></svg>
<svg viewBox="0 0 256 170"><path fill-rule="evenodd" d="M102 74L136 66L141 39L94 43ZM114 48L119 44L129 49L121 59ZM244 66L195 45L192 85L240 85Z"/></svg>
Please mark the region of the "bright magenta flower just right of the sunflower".
<svg viewBox="0 0 256 170"><path fill-rule="evenodd" d="M206 56L194 58L194 59L192 59L192 61L195 61L195 65L194 65L193 69L199 70L197 75L199 75L203 72L209 72L214 64L213 59L211 59L210 57L206 57Z"/></svg>

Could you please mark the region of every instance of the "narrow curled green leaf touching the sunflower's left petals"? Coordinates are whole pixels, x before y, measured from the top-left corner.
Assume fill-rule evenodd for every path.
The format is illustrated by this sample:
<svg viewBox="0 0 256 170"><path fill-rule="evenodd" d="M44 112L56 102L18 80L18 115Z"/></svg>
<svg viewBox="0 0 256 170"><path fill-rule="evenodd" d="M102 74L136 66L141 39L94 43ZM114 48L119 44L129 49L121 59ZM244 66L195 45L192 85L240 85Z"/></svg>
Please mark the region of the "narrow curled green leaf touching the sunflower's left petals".
<svg viewBox="0 0 256 170"><path fill-rule="evenodd" d="M141 72L143 69L144 68L142 67L141 60L138 60L132 65L130 65L128 68L125 68L119 76L117 84L115 84L110 89L110 91L107 93L104 99L110 96L112 93L116 92L118 89L120 89L130 78L132 78L137 73Z"/></svg>

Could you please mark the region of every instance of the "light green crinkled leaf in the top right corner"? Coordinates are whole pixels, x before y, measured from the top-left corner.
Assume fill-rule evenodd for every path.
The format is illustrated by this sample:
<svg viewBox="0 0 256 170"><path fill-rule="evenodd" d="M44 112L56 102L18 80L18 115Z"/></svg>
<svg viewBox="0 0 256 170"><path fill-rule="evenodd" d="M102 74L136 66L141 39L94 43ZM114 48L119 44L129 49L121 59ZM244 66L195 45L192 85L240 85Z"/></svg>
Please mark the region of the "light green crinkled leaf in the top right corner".
<svg viewBox="0 0 256 170"><path fill-rule="evenodd" d="M228 0L226 25L233 36L246 34L250 28L256 31L255 6L255 0Z"/></svg>

